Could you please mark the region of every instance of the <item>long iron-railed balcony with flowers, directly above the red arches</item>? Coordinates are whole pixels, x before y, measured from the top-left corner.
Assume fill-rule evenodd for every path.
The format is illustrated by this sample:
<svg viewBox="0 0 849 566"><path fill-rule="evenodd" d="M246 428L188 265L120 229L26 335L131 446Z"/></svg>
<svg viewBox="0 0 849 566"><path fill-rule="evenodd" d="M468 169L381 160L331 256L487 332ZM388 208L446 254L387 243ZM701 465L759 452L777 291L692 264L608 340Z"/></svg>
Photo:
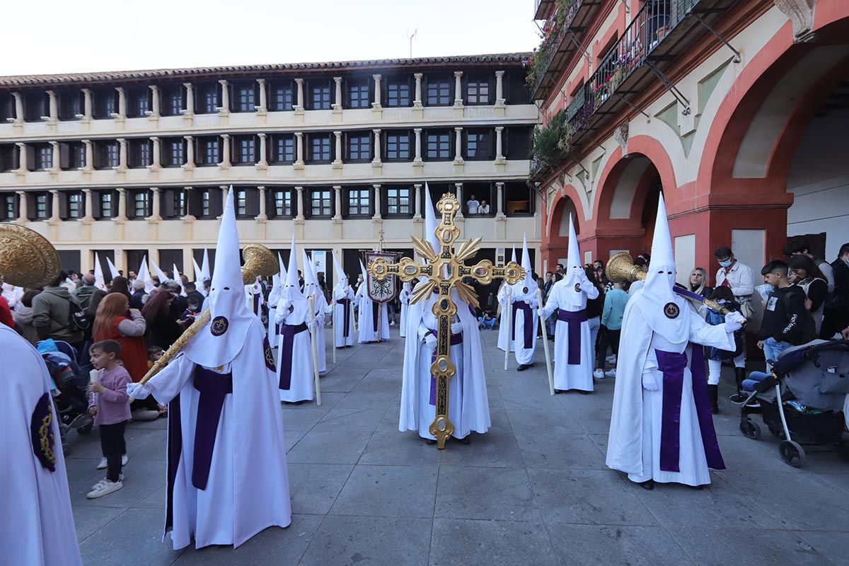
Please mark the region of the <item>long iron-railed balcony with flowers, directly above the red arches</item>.
<svg viewBox="0 0 849 566"><path fill-rule="evenodd" d="M559 154L548 161L565 159L593 132L610 126L617 116L631 111L629 95L644 92L655 81L668 81L662 70L683 56L700 36L709 33L702 22L710 25L736 2L651 0L640 8L619 41L604 55L598 69L566 106ZM672 85L667 87L674 89ZM689 112L686 99L680 92L672 92L683 104L683 112ZM543 167L537 175L545 171Z"/></svg>

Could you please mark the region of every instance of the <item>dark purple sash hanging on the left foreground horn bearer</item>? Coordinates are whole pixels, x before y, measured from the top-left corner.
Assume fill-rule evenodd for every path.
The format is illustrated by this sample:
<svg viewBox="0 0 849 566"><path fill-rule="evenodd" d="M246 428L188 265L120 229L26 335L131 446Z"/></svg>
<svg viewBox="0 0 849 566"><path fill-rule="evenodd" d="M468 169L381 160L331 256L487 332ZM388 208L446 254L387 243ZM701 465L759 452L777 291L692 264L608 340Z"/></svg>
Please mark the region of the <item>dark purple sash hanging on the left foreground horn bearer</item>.
<svg viewBox="0 0 849 566"><path fill-rule="evenodd" d="M196 366L194 367L194 389L200 392L200 398L198 417L194 423L192 485L199 490L205 490L206 481L210 476L212 449L215 447L224 398L233 393L233 374L215 373Z"/></svg>

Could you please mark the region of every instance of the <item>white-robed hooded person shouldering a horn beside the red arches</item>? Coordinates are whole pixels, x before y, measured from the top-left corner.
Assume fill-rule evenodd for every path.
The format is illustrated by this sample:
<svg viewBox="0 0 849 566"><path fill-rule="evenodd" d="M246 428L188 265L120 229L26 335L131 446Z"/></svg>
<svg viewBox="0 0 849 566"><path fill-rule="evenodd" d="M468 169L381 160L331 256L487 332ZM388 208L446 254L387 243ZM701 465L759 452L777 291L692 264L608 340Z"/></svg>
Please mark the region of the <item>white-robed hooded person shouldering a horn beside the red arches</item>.
<svg viewBox="0 0 849 566"><path fill-rule="evenodd" d="M644 288L622 319L607 465L654 489L655 482L700 486L724 469L713 428L702 345L734 350L745 319L732 312L707 324L673 292L675 258L663 195L657 206Z"/></svg>

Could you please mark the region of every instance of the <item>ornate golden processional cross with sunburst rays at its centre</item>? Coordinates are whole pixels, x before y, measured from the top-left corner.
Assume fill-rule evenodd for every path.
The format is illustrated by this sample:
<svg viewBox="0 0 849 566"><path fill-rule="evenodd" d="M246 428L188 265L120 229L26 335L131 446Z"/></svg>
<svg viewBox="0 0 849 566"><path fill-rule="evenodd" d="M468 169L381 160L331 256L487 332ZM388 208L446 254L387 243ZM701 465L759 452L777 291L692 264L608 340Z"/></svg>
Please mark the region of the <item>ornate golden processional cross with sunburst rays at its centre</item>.
<svg viewBox="0 0 849 566"><path fill-rule="evenodd" d="M464 242L456 253L453 253L453 244L460 235L460 229L454 224L454 215L458 213L459 207L457 197L451 193L443 194L436 203L436 210L442 215L442 221L434 230L440 243L438 252L426 239L413 236L413 247L424 257L424 266L404 257L398 263L388 263L383 258L377 258L369 262L367 267L369 275L378 281L383 281L391 275L396 275L405 282L412 281L415 277L427 276L427 283L419 285L419 288L413 291L413 303L426 299L435 290L439 293L439 300L432 309L437 321L436 361L430 365L430 373L436 378L436 418L430 423L430 434L436 436L436 446L440 449L445 448L445 440L454 432L454 425L448 419L448 379L457 373L449 353L451 319L457 314L457 306L451 299L451 289L457 289L462 300L477 307L475 291L463 283L464 277L472 277L484 285L492 283L492 279L496 278L506 279L512 285L525 277L525 270L514 261L503 267L493 266L489 260L466 266L464 261L478 252L483 238Z"/></svg>

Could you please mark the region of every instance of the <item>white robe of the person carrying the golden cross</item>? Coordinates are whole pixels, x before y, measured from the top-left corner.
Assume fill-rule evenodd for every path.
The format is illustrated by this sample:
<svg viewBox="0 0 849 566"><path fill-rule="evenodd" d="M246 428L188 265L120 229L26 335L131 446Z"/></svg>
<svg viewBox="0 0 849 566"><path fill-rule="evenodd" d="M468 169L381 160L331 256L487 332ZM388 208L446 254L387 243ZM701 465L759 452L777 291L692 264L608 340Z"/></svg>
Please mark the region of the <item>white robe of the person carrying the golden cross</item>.
<svg viewBox="0 0 849 566"><path fill-rule="evenodd" d="M423 283L419 283L423 284ZM401 413L398 430L415 430L419 436L433 440L430 423L436 417L436 406L430 405L430 373L433 350L424 343L428 329L436 329L436 317L430 311L437 295L410 305L407 338L404 341ZM486 375L483 370L481 331L469 305L452 290L459 322L463 325L463 343L451 347L451 358L457 373L448 381L448 418L454 425L455 438L465 438L471 431L483 434L491 426L489 401L486 397Z"/></svg>

